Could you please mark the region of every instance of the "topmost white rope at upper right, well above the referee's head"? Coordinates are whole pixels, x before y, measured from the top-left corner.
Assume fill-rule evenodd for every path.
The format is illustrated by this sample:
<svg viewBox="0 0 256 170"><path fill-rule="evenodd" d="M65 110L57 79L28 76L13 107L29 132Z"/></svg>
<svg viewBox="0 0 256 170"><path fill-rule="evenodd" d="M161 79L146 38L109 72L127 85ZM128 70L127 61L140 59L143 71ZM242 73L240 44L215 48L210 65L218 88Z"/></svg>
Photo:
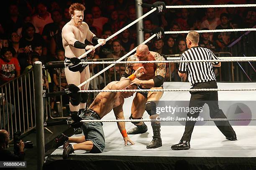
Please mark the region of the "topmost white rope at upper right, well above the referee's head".
<svg viewBox="0 0 256 170"><path fill-rule="evenodd" d="M234 8L234 7L256 7L256 4L225 4L225 5L172 5L166 8Z"/></svg>

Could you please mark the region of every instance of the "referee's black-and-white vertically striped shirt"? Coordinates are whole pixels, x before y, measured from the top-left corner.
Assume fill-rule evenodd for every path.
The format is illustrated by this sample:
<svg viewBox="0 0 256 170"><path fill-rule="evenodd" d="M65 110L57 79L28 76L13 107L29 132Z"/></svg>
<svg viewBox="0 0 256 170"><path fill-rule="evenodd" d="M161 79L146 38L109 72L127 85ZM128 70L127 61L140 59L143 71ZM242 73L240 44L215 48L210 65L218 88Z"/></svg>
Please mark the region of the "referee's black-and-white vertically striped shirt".
<svg viewBox="0 0 256 170"><path fill-rule="evenodd" d="M181 61L186 60L217 60L218 58L211 50L202 47L192 47L182 53ZM213 62L218 64L219 62ZM179 64L179 72L185 73L187 71L188 81L194 85L201 82L215 80L215 74L212 70L211 62L188 62Z"/></svg>

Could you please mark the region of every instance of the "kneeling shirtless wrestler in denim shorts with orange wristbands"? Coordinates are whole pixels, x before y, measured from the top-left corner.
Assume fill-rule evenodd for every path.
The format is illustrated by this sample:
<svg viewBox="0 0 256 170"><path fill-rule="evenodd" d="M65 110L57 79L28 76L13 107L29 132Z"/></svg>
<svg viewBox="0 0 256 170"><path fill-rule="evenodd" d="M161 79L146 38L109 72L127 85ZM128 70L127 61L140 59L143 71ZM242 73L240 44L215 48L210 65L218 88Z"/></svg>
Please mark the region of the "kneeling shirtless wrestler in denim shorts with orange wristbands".
<svg viewBox="0 0 256 170"><path fill-rule="evenodd" d="M121 81L110 82L103 90L118 90L118 89L137 89L137 85L130 85L131 82L143 75L143 67L138 68L134 74ZM100 92L89 109L82 112L81 118L87 120L101 119L108 114L112 109L114 111L116 119L124 119L123 116L123 103L124 98L133 96L134 92ZM125 130L125 122L118 122L118 129L123 136L125 145L127 142L134 144L128 137ZM82 129L84 136L81 137L67 137L64 134L60 134L59 137L54 140L55 147L63 145L63 158L67 158L69 154L74 150L86 150L91 153L100 153L105 148L105 137L102 129L102 122L83 122ZM77 143L74 145L68 142Z"/></svg>

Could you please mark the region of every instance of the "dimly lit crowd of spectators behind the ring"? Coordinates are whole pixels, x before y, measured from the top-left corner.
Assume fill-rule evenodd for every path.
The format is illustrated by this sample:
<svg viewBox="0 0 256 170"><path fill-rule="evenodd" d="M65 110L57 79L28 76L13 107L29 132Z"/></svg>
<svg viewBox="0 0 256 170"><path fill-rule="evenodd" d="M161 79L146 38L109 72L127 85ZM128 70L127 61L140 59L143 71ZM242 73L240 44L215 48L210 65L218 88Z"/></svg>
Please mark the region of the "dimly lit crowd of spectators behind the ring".
<svg viewBox="0 0 256 170"><path fill-rule="evenodd" d="M156 0L143 2L152 4ZM8 8L3 9L0 20L0 84L14 79L20 73L33 68L31 60L63 61L61 30L69 22L69 6L74 2L83 3L86 7L84 22L96 36L108 38L125 25L136 19L135 3L131 0L11 0ZM254 0L164 0L166 5L206 5L206 4L248 4ZM143 13L149 9L143 8ZM256 25L256 8L182 8L169 9L161 14L152 13L143 19L144 39L150 32L161 26L164 30L214 30L230 28L252 28ZM201 33L200 46L214 52L230 51L228 45L238 38L240 33ZM119 58L131 51L136 44L136 25L124 30L108 41L105 46L97 48L90 58ZM151 51L161 54L181 54L187 50L185 34L169 34L165 38L147 43ZM89 43L89 42L87 42ZM91 66L97 73L102 66ZM120 79L125 66L120 64L111 68L108 75L116 72ZM174 79L177 71L174 63L166 66L166 81ZM50 91L64 89L67 86L63 70L51 70L48 81ZM92 74L92 73L91 73ZM92 76L92 75L91 75ZM47 76L46 76L47 77ZM59 81L61 80L61 82ZM102 77L95 80L102 83ZM93 86L93 85L91 85ZM97 86L96 86L97 88ZM51 109L54 109L52 99Z"/></svg>

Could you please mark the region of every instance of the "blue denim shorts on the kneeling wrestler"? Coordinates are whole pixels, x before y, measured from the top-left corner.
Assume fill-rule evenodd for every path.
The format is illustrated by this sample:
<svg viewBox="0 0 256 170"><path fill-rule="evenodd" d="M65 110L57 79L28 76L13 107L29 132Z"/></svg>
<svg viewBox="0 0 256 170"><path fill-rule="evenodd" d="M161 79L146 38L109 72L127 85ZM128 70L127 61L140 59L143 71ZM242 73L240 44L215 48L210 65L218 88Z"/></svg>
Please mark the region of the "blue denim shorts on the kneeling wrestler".
<svg viewBox="0 0 256 170"><path fill-rule="evenodd" d="M81 114L81 118L86 120L97 120L94 117L84 115L84 113ZM102 122L83 122L82 125L85 140L92 141L94 147L97 147L99 152L102 152L105 148L105 136L102 125ZM91 152L97 153L97 151L95 152L95 149L91 150Z"/></svg>

